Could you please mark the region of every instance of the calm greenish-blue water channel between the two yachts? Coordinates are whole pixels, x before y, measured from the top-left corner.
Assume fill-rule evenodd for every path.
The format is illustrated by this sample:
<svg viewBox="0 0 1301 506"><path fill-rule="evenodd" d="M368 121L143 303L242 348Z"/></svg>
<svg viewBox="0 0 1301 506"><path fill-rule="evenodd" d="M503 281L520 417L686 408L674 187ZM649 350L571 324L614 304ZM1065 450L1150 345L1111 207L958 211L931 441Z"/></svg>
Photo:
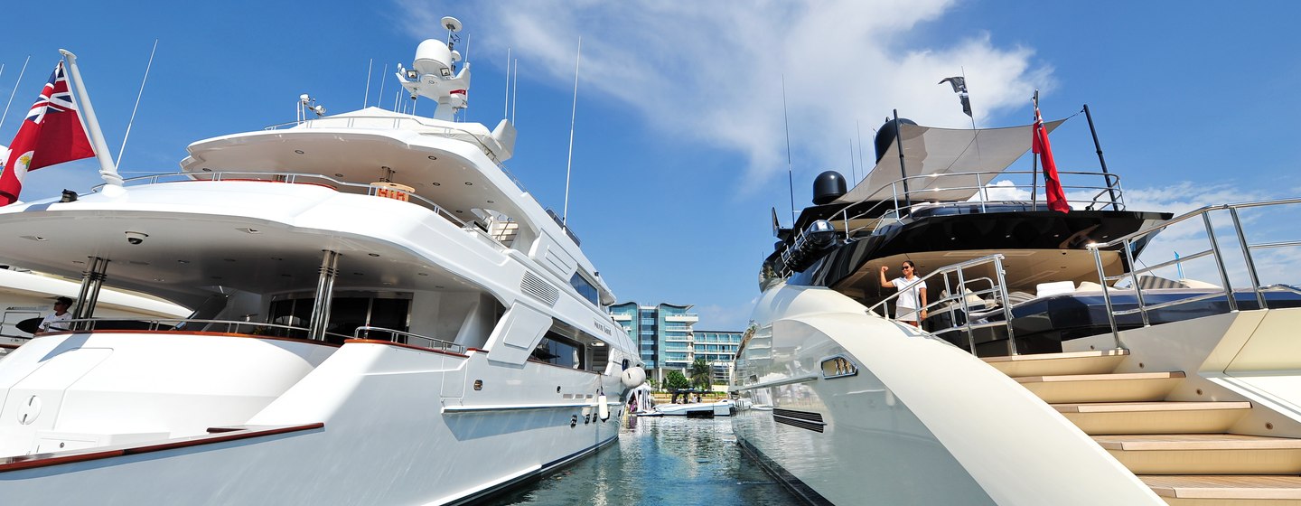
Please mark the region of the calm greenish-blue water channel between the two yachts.
<svg viewBox="0 0 1301 506"><path fill-rule="evenodd" d="M632 418L619 442L489 502L506 505L791 505L798 499L742 455L731 420Z"/></svg>

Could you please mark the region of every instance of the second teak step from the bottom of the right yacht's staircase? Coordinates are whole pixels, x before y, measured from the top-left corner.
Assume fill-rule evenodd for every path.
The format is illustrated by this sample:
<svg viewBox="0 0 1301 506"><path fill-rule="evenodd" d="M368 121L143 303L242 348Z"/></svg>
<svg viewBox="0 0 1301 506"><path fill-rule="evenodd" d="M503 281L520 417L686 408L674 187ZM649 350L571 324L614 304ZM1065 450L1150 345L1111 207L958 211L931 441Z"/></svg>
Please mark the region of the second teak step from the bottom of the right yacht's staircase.
<svg viewBox="0 0 1301 506"><path fill-rule="evenodd" d="M1094 436L1136 475L1297 475L1301 440L1245 434Z"/></svg>

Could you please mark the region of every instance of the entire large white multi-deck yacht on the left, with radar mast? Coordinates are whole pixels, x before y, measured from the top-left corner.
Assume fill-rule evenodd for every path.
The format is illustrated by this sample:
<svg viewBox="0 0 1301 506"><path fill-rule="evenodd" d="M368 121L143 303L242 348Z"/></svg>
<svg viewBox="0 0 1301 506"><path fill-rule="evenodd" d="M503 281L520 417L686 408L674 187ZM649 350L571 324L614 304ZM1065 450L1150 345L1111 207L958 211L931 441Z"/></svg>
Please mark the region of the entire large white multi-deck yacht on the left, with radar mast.
<svg viewBox="0 0 1301 506"><path fill-rule="evenodd" d="M505 170L514 127L453 121L451 40L399 73L433 118L304 111L180 174L0 208L0 259L87 294L0 360L5 503L458 503L615 441L639 354ZM87 317L111 286L194 312Z"/></svg>

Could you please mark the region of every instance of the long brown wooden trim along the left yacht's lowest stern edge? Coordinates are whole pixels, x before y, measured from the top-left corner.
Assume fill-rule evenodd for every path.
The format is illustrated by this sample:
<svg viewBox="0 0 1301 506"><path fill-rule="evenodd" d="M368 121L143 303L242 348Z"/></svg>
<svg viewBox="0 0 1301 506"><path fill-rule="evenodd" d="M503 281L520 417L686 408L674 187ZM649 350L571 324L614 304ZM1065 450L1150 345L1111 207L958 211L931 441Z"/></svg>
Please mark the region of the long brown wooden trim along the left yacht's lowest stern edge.
<svg viewBox="0 0 1301 506"><path fill-rule="evenodd" d="M113 457L138 455L151 451L172 450L178 447L202 446L216 442L247 440L252 437L284 434L289 432L315 431L325 428L324 423L311 423L303 425L276 425L276 427L246 427L233 428L233 431L209 433L206 436L181 437L168 440L163 444L130 446L112 450L88 450L72 453L42 453L35 455L20 455L0 458L0 472L30 470L36 467L49 467L70 464L74 462L99 460ZM212 429L208 429L209 432ZM220 431L220 428L219 428Z"/></svg>

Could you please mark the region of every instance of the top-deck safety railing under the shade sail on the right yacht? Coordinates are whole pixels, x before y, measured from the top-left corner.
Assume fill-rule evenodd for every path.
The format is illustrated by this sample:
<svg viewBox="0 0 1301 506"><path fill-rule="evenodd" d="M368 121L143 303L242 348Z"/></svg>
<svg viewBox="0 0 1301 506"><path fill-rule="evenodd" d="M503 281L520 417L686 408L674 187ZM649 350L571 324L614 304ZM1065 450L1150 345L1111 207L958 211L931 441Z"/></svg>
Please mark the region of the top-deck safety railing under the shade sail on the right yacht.
<svg viewBox="0 0 1301 506"><path fill-rule="evenodd" d="M848 209L850 209L851 206L846 206L840 211L840 216L838 216L837 219L840 220L844 224L844 237L850 238L855 233L857 233L859 230L865 229L865 226L861 226L861 228L856 228L856 229L851 230L850 229L850 221L851 220L863 219L863 217L868 217L868 216L881 216L881 219L877 220L877 222L873 226L872 232L874 233L874 232L877 232L877 229L879 229L881 226L885 225L886 220L894 220L895 222L903 222L903 220L905 217L908 217L908 216L912 215L912 211L920 209L921 206L925 206L925 208L958 207L958 206L980 206L980 212L986 212L987 206L991 206L991 204L1003 204L1003 203L1021 202L1021 200L1007 200L1007 199L997 199L997 200L990 199L989 198L989 193L991 190L993 191L999 191L999 193L1010 191L1010 190L1012 190L1012 191L1015 191L1015 190L1025 191L1032 198L1032 200L1030 200L1030 207L1032 207L1030 211L1038 209L1038 208L1041 208L1041 206L1042 206L1043 209L1047 209L1046 204L1039 204L1037 200L1033 200L1036 198L1036 190L1041 185L1037 185L1037 183L1033 183L1033 182L1029 183L1029 185L1021 185L1021 183L1015 183L1013 182L1012 185L990 186L990 183L993 183L994 180L999 178L1000 176L1016 176L1016 174L1021 174L1021 176L1032 174L1033 176L1033 174L1037 174L1037 172L1034 172L1034 170L955 172L955 173L947 173L947 174L909 176L909 177L905 177L905 178L895 180L889 186L882 186L879 190L877 190L876 194L868 195L866 198L864 198L863 200L860 200L860 202L873 202L873 200L877 202L874 206L869 207L868 209L864 209L864 211L861 211L861 212L859 212L859 213L856 213L853 216L850 216ZM1084 209L1102 209L1105 207L1111 207L1115 211L1124 211L1124 208L1125 208L1124 190L1120 187L1120 176L1112 174L1112 173L1106 173L1106 172L1077 172L1077 170L1059 170L1058 176L1063 181L1066 181L1067 178L1072 180L1069 182L1073 182L1075 180L1080 180L1080 178L1084 178L1084 177L1102 177L1102 180L1103 180L1103 182L1106 185L1106 186L1082 185L1082 183L1063 185L1063 190L1068 191L1068 193L1069 191L1080 191L1080 190L1095 190L1097 191L1097 194L1094 194L1090 199L1086 199L1086 200L1081 200L1081 199L1069 200L1068 199L1067 203L1072 204L1073 208L1075 207L1081 207ZM946 181L946 180L955 181L955 185L954 186L938 185L939 181ZM986 180L990 181L990 183L981 183L982 181L986 181ZM909 182L912 185L909 185ZM1002 182L1002 181L999 181L999 182ZM904 187L917 187L917 186L928 186L928 189L922 189L922 190L911 190L909 189L908 191L900 191ZM890 193L886 194L886 190L889 190ZM972 191L974 191L974 195L973 195L972 200L945 202L945 203L930 202L933 199L934 193L937 190L945 190L945 191L950 191L950 190L972 190ZM1115 200L1101 199L1103 194L1112 194L1112 193L1115 194ZM905 204L908 202L913 203L912 208L909 208ZM889 216L889 219L886 216Z"/></svg>

